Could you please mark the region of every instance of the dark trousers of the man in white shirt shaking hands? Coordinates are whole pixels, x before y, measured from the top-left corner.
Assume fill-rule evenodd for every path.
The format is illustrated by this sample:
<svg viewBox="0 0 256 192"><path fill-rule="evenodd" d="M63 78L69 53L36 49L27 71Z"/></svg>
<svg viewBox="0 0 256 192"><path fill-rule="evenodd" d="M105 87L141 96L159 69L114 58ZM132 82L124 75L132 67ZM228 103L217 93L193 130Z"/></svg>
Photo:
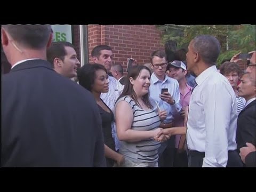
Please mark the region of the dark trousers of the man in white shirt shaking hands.
<svg viewBox="0 0 256 192"><path fill-rule="evenodd" d="M195 151L195 150L189 150L188 151L188 166L189 167L202 167L203 165L203 159L204 159L204 153ZM228 151L228 163L226 167L243 167L243 163L241 161L241 158L239 157L237 151Z"/></svg>

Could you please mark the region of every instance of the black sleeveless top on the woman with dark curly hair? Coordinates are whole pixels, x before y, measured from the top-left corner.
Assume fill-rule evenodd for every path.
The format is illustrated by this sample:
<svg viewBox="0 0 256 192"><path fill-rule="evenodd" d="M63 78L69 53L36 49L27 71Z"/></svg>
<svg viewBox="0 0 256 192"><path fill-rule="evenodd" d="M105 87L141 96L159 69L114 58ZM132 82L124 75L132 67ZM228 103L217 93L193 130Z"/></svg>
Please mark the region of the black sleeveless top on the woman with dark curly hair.
<svg viewBox="0 0 256 192"><path fill-rule="evenodd" d="M103 102L103 100L101 99L101 101ZM103 102L105 105L106 103ZM107 105L106 105L107 106ZM110 149L115 151L115 141L112 137L112 129L111 129L111 123L114 121L114 114L110 110L110 113L108 113L107 111L105 111L104 109L102 109L99 105L99 111L100 111L100 116L101 116L101 123L102 123L102 131L103 131L103 137L104 137L104 143L106 146L108 146ZM107 167L112 167L115 163L115 161L113 159L107 158L106 157L106 163L107 163Z"/></svg>

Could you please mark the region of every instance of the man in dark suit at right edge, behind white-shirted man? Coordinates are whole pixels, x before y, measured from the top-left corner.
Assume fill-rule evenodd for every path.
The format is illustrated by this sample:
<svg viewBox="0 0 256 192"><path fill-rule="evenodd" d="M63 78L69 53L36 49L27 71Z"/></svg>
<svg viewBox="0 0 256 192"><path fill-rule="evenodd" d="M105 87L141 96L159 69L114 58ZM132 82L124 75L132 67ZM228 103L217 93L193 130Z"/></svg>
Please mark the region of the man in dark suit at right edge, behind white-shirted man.
<svg viewBox="0 0 256 192"><path fill-rule="evenodd" d="M238 95L246 100L245 107L237 118L237 150L246 147L246 142L256 144L256 85L255 76L246 72L238 85Z"/></svg>

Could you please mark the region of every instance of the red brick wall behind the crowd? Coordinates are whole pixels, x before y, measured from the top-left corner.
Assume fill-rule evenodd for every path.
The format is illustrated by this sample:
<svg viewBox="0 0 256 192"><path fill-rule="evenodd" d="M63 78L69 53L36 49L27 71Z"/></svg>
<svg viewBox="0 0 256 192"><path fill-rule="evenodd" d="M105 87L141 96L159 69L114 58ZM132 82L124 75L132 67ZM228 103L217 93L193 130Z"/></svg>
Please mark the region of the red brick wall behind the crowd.
<svg viewBox="0 0 256 192"><path fill-rule="evenodd" d="M150 54L163 49L160 32L154 25L88 25L89 58L93 47L106 44L114 53L113 63L127 68L127 58L139 64L150 62Z"/></svg>

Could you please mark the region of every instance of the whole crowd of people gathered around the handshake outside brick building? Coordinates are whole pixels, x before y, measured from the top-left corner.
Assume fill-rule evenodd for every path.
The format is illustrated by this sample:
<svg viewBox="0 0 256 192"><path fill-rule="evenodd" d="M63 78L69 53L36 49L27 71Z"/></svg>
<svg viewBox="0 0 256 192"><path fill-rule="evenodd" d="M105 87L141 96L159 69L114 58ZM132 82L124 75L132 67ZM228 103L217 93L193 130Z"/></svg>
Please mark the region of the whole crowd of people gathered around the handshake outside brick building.
<svg viewBox="0 0 256 192"><path fill-rule="evenodd" d="M218 39L199 35L125 76L110 46L81 67L52 36L50 25L2 25L3 167L256 166L255 51L246 71L240 53L218 71Z"/></svg>

